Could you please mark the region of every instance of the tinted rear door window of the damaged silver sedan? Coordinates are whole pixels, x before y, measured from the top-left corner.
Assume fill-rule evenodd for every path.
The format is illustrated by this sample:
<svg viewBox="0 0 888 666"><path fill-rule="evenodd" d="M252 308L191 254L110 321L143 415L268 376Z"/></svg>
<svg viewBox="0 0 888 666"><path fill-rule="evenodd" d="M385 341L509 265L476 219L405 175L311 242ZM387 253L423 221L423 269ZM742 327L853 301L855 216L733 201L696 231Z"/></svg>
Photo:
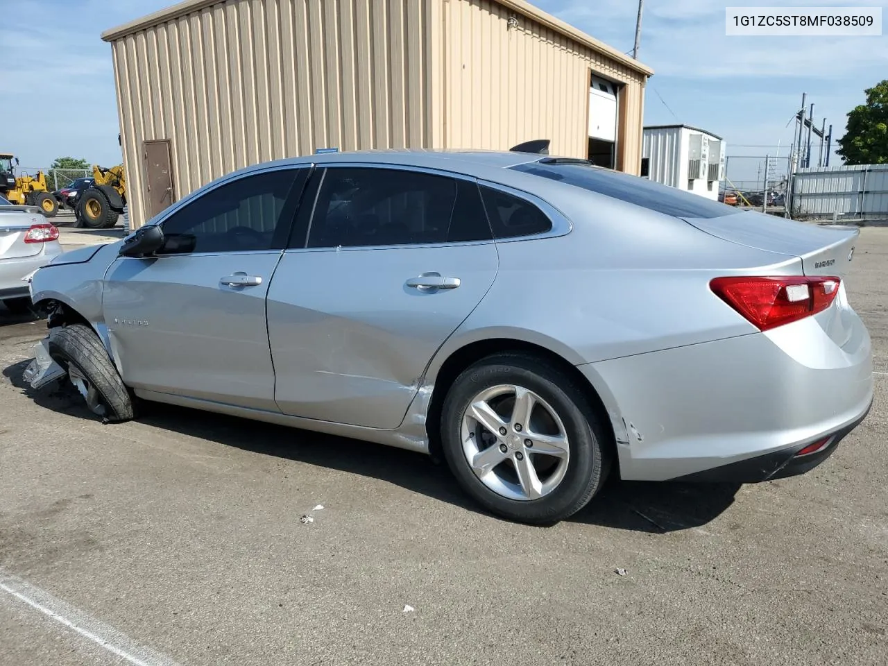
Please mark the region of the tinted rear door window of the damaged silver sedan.
<svg viewBox="0 0 888 666"><path fill-rule="evenodd" d="M408 170L343 167L329 168L323 176L308 247L490 238L476 183Z"/></svg>

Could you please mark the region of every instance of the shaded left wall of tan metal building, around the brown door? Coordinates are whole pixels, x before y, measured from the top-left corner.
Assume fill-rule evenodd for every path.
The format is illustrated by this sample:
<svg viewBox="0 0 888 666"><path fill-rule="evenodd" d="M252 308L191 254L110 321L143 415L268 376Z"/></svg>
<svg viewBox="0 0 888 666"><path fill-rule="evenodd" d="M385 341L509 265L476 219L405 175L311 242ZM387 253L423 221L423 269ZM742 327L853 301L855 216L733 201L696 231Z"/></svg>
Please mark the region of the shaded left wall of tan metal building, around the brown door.
<svg viewBox="0 0 888 666"><path fill-rule="evenodd" d="M226 0L115 39L133 228L146 139L172 139L177 198L318 147L430 145L428 2Z"/></svg>

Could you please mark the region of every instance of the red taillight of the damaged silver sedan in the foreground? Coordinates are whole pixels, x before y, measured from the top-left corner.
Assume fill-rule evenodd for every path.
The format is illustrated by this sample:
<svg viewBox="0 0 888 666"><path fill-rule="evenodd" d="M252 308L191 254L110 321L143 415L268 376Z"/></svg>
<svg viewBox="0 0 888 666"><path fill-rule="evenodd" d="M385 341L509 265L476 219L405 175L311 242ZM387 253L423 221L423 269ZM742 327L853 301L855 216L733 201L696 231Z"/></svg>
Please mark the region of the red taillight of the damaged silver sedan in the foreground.
<svg viewBox="0 0 888 666"><path fill-rule="evenodd" d="M838 293L837 277L725 277L710 289L761 330L826 310Z"/></svg>

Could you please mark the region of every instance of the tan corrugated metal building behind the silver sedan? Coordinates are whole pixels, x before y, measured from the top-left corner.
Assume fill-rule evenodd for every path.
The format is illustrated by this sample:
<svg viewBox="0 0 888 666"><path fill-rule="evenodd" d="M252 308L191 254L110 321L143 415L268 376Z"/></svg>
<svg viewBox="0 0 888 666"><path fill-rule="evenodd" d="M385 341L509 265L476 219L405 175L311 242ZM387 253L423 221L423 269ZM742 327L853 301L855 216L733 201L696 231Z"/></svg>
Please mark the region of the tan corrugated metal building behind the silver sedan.
<svg viewBox="0 0 888 666"><path fill-rule="evenodd" d="M640 167L652 71L524 0L186 0L102 39L134 227L322 147L551 139L554 155Z"/></svg>

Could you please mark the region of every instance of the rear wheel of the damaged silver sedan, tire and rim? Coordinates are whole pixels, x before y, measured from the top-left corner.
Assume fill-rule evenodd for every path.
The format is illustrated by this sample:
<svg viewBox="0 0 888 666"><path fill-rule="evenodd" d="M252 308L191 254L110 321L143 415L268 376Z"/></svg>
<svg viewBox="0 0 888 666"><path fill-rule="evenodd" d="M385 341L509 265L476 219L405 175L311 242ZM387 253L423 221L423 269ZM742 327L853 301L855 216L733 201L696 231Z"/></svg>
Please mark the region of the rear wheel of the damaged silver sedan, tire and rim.
<svg viewBox="0 0 888 666"><path fill-rule="evenodd" d="M519 416L524 399L533 418ZM440 428L444 457L464 490L519 522L566 519L589 503L610 469L606 431L583 390L526 353L495 354L464 370L444 400Z"/></svg>

